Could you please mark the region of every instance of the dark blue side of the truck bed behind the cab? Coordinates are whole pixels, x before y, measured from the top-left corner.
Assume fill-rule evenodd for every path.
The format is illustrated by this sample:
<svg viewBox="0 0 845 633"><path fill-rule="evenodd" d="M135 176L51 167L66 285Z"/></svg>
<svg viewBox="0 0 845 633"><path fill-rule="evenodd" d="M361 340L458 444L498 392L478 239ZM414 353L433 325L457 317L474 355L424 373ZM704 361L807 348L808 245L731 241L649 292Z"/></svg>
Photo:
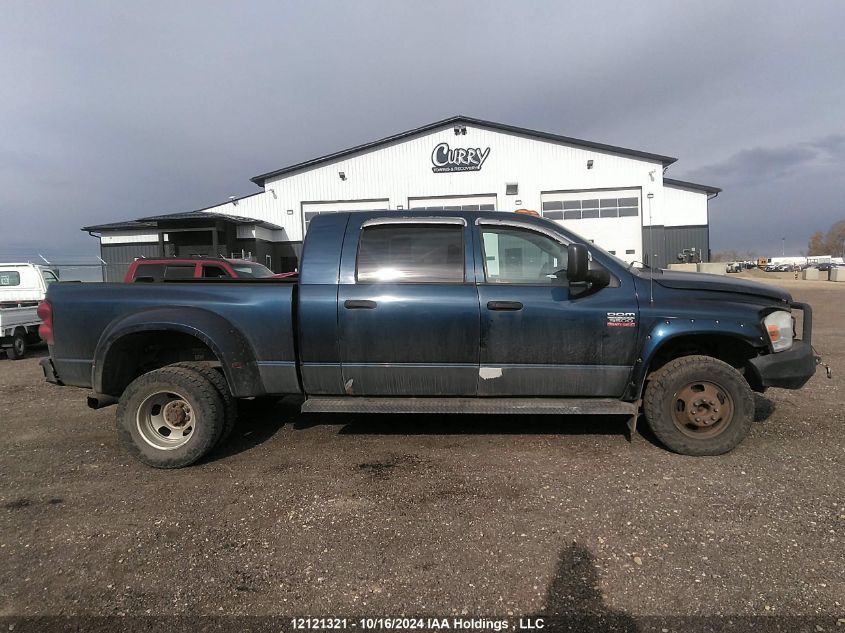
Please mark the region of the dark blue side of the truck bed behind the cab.
<svg viewBox="0 0 845 633"><path fill-rule="evenodd" d="M53 284L53 363L64 384L96 390L114 340L175 327L221 362L236 359L223 367L236 395L295 393L295 291L295 283L273 279ZM249 380L238 380L244 373Z"/></svg>

